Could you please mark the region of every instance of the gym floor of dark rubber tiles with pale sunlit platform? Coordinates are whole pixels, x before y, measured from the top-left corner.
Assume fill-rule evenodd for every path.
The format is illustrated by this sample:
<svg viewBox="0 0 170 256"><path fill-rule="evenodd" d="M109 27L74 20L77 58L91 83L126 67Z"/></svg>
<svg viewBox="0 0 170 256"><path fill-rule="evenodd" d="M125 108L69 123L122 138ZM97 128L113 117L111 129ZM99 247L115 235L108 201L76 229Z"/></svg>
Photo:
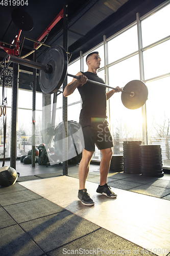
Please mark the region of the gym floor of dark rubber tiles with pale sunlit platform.
<svg viewBox="0 0 170 256"><path fill-rule="evenodd" d="M110 199L96 193L99 165L90 164L89 207L77 198L78 167L63 176L62 164L16 161L17 182L0 187L0 255L170 255L169 174L109 172Z"/></svg>

